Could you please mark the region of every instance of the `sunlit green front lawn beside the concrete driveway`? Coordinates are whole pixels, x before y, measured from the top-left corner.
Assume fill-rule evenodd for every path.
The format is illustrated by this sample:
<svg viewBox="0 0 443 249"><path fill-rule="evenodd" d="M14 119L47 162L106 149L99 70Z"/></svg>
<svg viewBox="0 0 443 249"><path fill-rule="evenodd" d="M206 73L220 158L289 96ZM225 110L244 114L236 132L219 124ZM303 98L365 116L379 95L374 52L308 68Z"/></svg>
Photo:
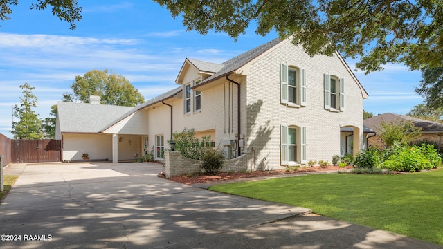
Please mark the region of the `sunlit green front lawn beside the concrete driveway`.
<svg viewBox="0 0 443 249"><path fill-rule="evenodd" d="M443 169L402 175L321 174L210 190L312 212L443 245Z"/></svg>

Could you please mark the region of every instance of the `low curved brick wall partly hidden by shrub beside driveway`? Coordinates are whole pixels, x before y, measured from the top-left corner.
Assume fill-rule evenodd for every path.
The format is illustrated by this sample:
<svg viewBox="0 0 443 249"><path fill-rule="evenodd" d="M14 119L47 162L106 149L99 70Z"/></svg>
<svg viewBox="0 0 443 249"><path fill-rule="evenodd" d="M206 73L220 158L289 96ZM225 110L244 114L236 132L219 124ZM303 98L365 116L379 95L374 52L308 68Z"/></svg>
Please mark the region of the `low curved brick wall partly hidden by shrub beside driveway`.
<svg viewBox="0 0 443 249"><path fill-rule="evenodd" d="M199 160L181 156L179 151L165 151L166 178L183 174L200 173ZM226 160L220 172L238 172L247 169L247 154Z"/></svg>

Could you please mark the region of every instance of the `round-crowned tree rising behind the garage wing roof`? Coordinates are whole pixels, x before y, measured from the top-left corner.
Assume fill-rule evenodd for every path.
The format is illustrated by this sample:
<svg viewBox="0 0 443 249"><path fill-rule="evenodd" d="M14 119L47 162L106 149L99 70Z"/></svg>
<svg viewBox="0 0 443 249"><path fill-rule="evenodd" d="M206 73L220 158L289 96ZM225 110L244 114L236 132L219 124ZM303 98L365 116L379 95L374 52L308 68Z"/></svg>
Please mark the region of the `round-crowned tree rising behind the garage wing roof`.
<svg viewBox="0 0 443 249"><path fill-rule="evenodd" d="M98 95L100 104L134 107L145 102L125 77L107 70L92 70L83 76L75 76L71 89L73 93L64 93L63 101L88 103L90 95Z"/></svg>

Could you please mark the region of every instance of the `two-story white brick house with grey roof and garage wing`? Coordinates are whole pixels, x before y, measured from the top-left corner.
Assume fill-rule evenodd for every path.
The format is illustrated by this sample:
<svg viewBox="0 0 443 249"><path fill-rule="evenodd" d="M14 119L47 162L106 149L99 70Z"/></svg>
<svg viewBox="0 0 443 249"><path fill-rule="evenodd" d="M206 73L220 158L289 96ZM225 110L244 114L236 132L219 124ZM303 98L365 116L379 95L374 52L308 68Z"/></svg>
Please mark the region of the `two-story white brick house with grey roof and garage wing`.
<svg viewBox="0 0 443 249"><path fill-rule="evenodd" d="M143 145L161 151L183 128L195 129L197 137L211 135L230 157L246 154L245 169L331 161L365 147L363 99L368 93L338 53L309 57L301 46L274 39L223 64L186 59L176 83L177 89L89 131L79 131L85 126L81 122L66 126L64 120L75 122L67 107L72 103L59 102L63 160L79 159L88 148L76 152L72 145L88 144L98 135L108 137L107 155L114 162L141 155ZM91 104L80 105L78 111L88 115L106 115L89 110ZM341 132L345 127L347 132ZM129 140L136 143L132 149Z"/></svg>

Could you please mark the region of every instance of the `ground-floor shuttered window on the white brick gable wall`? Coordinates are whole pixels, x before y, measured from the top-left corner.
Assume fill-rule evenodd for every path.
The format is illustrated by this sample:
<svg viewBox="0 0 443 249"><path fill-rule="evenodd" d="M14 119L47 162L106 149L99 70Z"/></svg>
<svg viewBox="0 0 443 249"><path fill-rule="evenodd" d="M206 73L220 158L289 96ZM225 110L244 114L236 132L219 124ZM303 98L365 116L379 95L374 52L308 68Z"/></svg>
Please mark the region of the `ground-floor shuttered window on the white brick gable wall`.
<svg viewBox="0 0 443 249"><path fill-rule="evenodd" d="M297 145L297 142L300 142L300 145ZM306 147L306 127L280 126L281 165L293 165L297 162L305 163Z"/></svg>

